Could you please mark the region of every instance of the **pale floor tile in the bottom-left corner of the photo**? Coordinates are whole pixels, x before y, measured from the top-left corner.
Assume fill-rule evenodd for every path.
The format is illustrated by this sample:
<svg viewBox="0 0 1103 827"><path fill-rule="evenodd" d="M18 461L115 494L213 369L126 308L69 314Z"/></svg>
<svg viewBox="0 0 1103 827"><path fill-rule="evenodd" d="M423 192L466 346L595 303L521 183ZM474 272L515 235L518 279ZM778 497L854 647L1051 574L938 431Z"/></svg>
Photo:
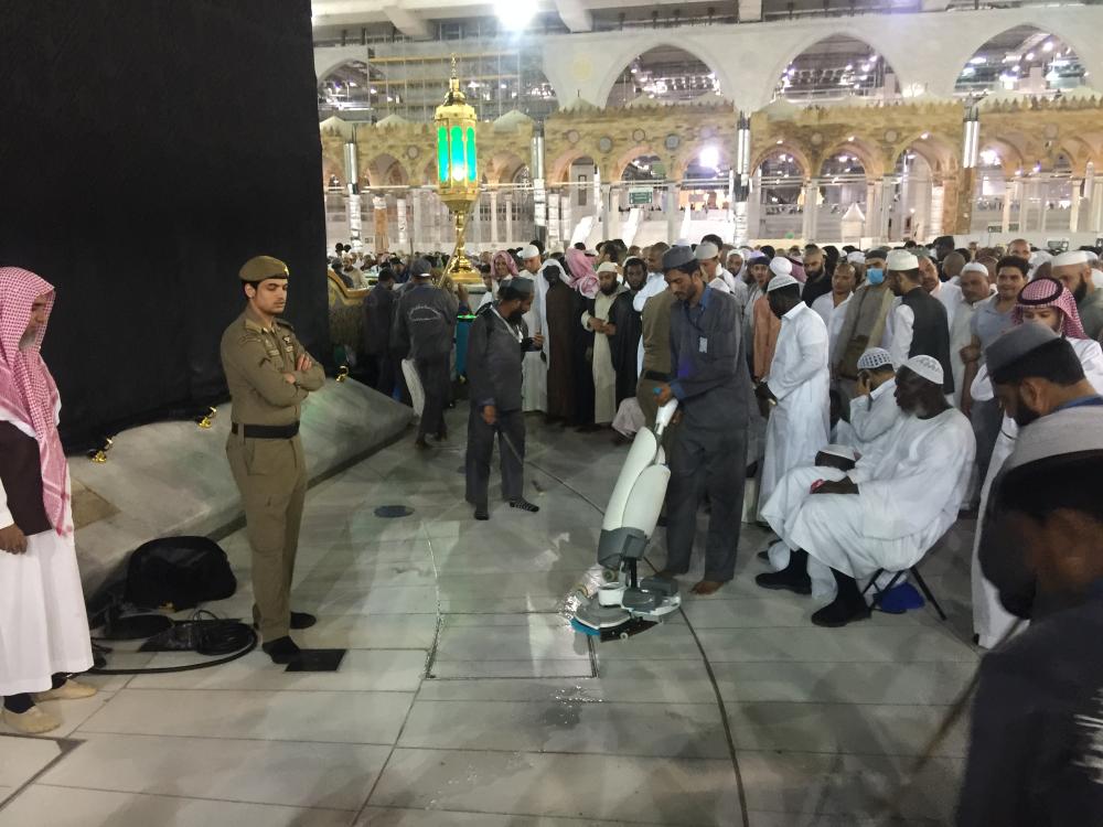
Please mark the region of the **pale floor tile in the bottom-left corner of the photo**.
<svg viewBox="0 0 1103 827"><path fill-rule="evenodd" d="M347 827L350 814L41 784L0 810L0 827Z"/></svg>

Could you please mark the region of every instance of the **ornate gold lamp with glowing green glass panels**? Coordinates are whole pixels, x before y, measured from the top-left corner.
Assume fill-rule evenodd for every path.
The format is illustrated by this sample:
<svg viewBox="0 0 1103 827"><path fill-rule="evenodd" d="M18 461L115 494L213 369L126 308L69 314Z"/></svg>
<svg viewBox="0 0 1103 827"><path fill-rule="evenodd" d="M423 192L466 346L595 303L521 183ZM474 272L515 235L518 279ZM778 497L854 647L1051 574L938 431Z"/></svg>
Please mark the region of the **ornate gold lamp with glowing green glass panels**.
<svg viewBox="0 0 1103 827"><path fill-rule="evenodd" d="M467 103L456 76L456 57L452 57L452 78L445 103L437 107L432 118L437 127L437 192L456 219L456 249L445 269L445 275L460 284L482 284L479 270L463 251L463 230L471 205L479 197L479 157L475 149L475 110Z"/></svg>

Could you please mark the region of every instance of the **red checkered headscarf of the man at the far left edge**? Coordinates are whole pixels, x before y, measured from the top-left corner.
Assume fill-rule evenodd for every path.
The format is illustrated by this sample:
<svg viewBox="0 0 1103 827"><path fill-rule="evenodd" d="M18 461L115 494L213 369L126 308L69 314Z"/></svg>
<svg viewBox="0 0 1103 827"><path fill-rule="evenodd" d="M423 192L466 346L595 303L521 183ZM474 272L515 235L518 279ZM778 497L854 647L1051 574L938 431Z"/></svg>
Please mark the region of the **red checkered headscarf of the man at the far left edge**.
<svg viewBox="0 0 1103 827"><path fill-rule="evenodd" d="M40 348L46 325L20 347L31 320L31 305L49 296L46 314L54 307L54 288L18 267L0 267L0 408L34 429L42 465L42 501L46 517L60 535L73 530L67 520L69 498L65 452L57 436L57 385L42 361Z"/></svg>

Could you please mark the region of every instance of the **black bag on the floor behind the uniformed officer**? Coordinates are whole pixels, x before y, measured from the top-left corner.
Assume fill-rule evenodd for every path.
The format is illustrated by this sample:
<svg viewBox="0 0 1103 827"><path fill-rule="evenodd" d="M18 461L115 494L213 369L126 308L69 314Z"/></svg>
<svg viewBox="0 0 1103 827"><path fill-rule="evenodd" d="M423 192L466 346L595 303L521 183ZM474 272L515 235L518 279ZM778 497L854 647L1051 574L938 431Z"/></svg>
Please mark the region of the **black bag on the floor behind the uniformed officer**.
<svg viewBox="0 0 1103 827"><path fill-rule="evenodd" d="M237 591L226 552L206 537L162 537L135 549L127 563L127 603L143 609L191 609Z"/></svg>

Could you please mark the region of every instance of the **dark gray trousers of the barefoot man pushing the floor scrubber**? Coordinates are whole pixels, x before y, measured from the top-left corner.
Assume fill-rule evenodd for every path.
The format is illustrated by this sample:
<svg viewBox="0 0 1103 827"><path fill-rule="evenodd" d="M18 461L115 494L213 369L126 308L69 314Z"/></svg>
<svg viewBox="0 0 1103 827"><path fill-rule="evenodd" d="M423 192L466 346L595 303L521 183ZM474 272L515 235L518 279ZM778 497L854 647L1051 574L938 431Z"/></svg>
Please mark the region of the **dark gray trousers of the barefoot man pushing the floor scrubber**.
<svg viewBox="0 0 1103 827"><path fill-rule="evenodd" d="M678 428L666 488L666 569L689 570L697 534L697 508L708 493L711 514L705 540L705 580L727 582L736 570L747 477L747 428L702 431Z"/></svg>

